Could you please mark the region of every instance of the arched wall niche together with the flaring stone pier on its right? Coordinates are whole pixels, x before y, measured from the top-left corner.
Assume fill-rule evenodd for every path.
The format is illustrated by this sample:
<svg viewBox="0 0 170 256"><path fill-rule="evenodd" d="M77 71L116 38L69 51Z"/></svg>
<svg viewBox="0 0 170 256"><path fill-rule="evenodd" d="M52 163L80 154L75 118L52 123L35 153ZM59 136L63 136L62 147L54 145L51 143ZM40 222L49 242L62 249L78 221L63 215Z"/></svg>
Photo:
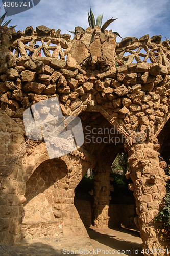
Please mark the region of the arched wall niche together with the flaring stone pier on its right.
<svg viewBox="0 0 170 256"><path fill-rule="evenodd" d="M41 236L44 233L44 230L42 232L44 225L46 226L46 234L49 236L56 236L57 234L64 236L71 234L87 235L74 206L74 189L90 165L94 165L94 162L94 157L89 156L85 149L80 148L79 151L72 152L72 154L56 159L47 159L39 164L26 183L26 202L24 203L26 216L22 224L23 237ZM49 178L44 172L41 172L41 166L45 170L44 172L48 170L48 174L54 176L54 179L47 182L47 185L45 185L45 179L49 180ZM61 170L57 174L54 173L56 172L55 169ZM37 188L34 189L34 186L39 184L38 178L41 187L40 190L36 191ZM33 193L35 198L30 201L28 197L33 197ZM46 202L45 207L43 200ZM30 212L32 212L32 216Z"/></svg>

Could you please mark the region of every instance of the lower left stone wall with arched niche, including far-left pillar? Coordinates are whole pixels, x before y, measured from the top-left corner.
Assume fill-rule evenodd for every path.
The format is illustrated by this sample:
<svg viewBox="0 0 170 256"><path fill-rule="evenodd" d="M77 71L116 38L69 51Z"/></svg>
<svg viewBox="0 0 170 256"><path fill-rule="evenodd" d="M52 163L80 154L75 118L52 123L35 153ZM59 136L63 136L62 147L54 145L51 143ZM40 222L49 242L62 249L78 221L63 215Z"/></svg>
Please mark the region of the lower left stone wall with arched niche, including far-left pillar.
<svg viewBox="0 0 170 256"><path fill-rule="evenodd" d="M21 136L24 132L19 120L1 113L2 160L12 157L10 163L6 161L2 166L6 174L1 183L1 241L13 244L22 237L41 237L46 234L70 236L76 233L87 236L73 203L74 189L92 164L91 156L86 150L86 157L83 152L77 151L69 158L61 157L55 162L49 160L44 142L28 143L22 153L25 139ZM19 148L21 154L14 156L15 151L12 152L11 148L15 151ZM85 162L83 159L86 159ZM12 161L14 165L10 167ZM42 166L47 174L42 171ZM24 205L25 217L22 223Z"/></svg>

